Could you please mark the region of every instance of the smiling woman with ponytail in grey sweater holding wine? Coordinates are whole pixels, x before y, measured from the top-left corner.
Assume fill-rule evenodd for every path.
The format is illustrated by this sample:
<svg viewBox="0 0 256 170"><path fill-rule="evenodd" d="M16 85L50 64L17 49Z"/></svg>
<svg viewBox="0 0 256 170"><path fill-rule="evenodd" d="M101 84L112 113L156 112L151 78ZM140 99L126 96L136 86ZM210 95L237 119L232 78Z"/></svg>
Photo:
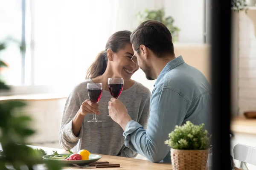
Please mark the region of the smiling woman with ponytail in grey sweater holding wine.
<svg viewBox="0 0 256 170"><path fill-rule="evenodd" d="M120 99L134 121L146 127L149 114L150 91L131 79L139 67L131 60L134 52L130 31L118 31L111 35L102 51L87 72L85 82L77 85L67 99L61 123L59 141L61 147L74 151L89 150L113 156L135 157L137 154L125 147L122 128L108 116L108 78L123 78L124 86ZM87 95L87 83L102 83L102 97L93 104ZM102 122L92 123L96 119Z"/></svg>

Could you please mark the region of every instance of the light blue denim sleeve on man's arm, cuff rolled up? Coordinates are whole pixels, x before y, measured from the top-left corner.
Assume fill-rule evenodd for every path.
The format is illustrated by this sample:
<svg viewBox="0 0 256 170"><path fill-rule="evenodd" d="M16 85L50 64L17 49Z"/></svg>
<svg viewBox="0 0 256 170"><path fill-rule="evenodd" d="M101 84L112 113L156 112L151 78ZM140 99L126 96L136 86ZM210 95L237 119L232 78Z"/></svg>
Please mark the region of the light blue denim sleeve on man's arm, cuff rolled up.
<svg viewBox="0 0 256 170"><path fill-rule="evenodd" d="M165 159L170 147L164 141L175 125L182 124L188 107L188 101L177 91L169 88L154 91L147 129L135 121L128 122L123 133L125 145L151 162L170 162L170 157Z"/></svg>

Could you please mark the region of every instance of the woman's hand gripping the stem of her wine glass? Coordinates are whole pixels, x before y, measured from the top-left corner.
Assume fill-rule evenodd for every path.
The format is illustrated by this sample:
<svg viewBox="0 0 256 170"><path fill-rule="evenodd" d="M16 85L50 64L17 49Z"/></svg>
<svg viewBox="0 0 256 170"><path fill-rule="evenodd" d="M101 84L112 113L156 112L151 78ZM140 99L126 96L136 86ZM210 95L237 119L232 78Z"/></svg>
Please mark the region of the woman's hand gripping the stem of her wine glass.
<svg viewBox="0 0 256 170"><path fill-rule="evenodd" d="M89 99L87 99L82 103L78 113L83 116L87 115L88 113L99 114L99 104L94 104Z"/></svg>

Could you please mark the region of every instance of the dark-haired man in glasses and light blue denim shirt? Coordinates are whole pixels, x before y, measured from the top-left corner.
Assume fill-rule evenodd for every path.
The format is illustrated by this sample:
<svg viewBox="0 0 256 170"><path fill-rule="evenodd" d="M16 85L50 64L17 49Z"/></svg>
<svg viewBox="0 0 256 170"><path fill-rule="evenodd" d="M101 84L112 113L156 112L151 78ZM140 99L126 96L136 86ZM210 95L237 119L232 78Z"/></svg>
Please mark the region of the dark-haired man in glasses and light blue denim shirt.
<svg viewBox="0 0 256 170"><path fill-rule="evenodd" d="M133 121L118 99L108 102L109 115L124 130L125 145L151 162L171 162L170 147L164 144L175 125L186 121L208 125L210 85L204 75L175 57L172 35L157 21L145 21L131 34L132 60L147 79L157 79L151 95L146 130Z"/></svg>

